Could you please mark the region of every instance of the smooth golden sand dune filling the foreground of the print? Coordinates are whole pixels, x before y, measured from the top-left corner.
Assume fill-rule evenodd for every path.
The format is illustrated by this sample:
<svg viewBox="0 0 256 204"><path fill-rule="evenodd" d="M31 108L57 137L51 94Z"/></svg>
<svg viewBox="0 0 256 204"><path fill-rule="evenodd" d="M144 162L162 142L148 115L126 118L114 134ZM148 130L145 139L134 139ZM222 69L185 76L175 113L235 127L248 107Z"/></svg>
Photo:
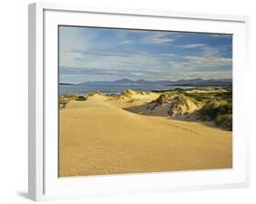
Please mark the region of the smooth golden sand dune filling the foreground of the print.
<svg viewBox="0 0 256 204"><path fill-rule="evenodd" d="M231 132L123 109L150 99L69 102L59 113L59 176L232 167Z"/></svg>

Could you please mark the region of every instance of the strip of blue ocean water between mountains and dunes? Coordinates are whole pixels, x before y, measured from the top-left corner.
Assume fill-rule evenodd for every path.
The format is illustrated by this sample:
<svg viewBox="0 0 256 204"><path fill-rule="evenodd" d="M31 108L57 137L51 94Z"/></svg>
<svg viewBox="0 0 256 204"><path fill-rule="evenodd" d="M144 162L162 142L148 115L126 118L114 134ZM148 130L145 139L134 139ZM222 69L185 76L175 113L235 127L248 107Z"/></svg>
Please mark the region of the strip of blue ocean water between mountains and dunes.
<svg viewBox="0 0 256 204"><path fill-rule="evenodd" d="M124 90L136 91L188 89L191 87L160 86L160 85L59 85L59 95L87 95L91 91L101 91L104 94L119 94Z"/></svg>

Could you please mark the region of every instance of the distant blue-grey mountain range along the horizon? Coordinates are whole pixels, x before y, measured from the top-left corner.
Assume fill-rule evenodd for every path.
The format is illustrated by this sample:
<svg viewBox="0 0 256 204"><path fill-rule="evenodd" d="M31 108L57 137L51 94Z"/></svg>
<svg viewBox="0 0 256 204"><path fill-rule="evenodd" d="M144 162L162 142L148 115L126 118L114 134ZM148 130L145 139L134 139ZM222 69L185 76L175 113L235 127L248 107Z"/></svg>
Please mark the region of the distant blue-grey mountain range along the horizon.
<svg viewBox="0 0 256 204"><path fill-rule="evenodd" d="M62 83L65 85L67 83ZM120 85L120 86L150 86L150 85L161 85L161 86L180 86L180 87L203 87L203 86L230 86L232 85L232 79L180 79L177 81L172 80L159 80L159 81L148 81L144 79L130 80L127 78L116 80L116 81L90 81L82 82L77 85Z"/></svg>

